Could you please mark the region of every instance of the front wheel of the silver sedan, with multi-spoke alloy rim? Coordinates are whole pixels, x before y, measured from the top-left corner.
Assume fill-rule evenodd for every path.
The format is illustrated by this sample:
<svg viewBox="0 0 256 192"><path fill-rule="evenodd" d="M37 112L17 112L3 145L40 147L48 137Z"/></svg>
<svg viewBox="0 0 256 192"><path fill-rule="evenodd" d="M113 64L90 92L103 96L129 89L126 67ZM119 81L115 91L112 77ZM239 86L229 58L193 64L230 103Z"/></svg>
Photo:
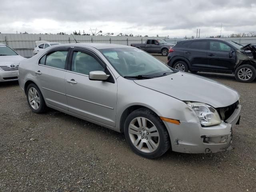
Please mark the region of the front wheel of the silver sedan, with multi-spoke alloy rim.
<svg viewBox="0 0 256 192"><path fill-rule="evenodd" d="M170 148L164 123L148 109L135 110L127 117L124 134L132 150L145 158L160 157Z"/></svg>

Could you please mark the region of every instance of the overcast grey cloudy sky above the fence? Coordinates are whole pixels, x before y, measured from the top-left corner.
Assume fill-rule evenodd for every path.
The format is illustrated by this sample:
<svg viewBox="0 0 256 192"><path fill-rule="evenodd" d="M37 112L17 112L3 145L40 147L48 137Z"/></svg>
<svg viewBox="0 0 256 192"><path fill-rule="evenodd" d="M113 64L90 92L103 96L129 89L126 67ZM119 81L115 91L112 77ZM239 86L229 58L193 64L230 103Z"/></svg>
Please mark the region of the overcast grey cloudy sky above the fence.
<svg viewBox="0 0 256 192"><path fill-rule="evenodd" d="M190 37L256 31L256 0L1 0L2 33Z"/></svg>

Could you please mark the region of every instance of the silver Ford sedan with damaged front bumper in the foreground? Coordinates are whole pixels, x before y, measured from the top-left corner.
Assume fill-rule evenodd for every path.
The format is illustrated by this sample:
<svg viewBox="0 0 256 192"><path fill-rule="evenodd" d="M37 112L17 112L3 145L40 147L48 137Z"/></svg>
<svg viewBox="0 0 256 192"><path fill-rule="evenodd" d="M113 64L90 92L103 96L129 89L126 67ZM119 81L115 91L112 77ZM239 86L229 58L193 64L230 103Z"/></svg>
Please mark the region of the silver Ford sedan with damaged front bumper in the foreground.
<svg viewBox="0 0 256 192"><path fill-rule="evenodd" d="M232 149L238 93L115 44L62 44L20 63L19 84L35 113L54 108L125 134L132 150L156 158Z"/></svg>

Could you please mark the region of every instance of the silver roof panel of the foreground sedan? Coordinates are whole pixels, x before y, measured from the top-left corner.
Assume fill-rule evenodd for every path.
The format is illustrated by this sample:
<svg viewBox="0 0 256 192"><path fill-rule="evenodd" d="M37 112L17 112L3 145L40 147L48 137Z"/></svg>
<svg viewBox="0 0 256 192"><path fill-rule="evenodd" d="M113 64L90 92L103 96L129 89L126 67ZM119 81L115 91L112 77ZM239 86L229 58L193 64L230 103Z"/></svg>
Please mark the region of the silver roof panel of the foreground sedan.
<svg viewBox="0 0 256 192"><path fill-rule="evenodd" d="M130 48L127 45L120 45L120 44L109 44L109 43L68 43L68 44L59 44L55 45L54 47L65 47L65 46L74 46L74 47L84 47L87 48L88 46L96 48L96 49L108 49L108 48Z"/></svg>

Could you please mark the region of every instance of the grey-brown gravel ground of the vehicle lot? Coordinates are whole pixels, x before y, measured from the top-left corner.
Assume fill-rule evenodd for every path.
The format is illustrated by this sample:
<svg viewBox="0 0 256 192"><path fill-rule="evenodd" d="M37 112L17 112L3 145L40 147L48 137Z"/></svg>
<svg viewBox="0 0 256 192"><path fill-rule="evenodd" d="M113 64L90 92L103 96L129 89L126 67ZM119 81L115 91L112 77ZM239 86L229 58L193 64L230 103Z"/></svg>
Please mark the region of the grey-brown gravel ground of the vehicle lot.
<svg viewBox="0 0 256 192"><path fill-rule="evenodd" d="M198 74L241 94L232 151L168 151L148 160L130 150L123 134L55 110L32 113L18 82L1 83L0 191L256 191L256 82Z"/></svg>

